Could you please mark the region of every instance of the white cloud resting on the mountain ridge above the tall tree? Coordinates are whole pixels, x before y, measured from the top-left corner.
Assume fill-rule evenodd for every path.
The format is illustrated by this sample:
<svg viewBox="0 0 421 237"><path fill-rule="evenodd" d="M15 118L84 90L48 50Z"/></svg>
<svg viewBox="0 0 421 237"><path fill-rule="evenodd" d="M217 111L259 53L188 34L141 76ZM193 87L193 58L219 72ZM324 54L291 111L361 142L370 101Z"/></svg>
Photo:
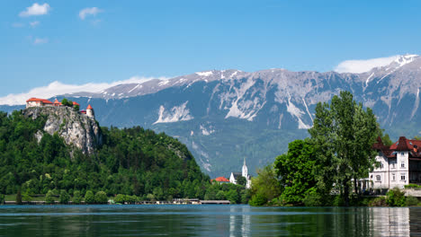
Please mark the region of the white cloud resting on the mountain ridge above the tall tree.
<svg viewBox="0 0 421 237"><path fill-rule="evenodd" d="M338 73L362 74L372 70L372 68L374 67L388 66L398 57L399 56L378 57L361 60L346 60L344 62L341 62L338 66L336 66L334 70Z"/></svg>

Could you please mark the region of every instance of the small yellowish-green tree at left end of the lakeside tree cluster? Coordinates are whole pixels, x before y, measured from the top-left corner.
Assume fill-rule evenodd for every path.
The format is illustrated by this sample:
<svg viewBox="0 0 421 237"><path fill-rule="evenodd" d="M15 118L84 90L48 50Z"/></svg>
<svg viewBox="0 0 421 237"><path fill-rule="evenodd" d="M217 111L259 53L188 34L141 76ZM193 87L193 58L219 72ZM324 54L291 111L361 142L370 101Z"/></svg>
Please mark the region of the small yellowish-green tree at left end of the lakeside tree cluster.
<svg viewBox="0 0 421 237"><path fill-rule="evenodd" d="M263 170L257 171L257 176L252 178L251 183L251 200L255 200L255 205L264 205L265 202L281 195L281 186L272 165L267 165ZM264 203L261 204L263 200Z"/></svg>

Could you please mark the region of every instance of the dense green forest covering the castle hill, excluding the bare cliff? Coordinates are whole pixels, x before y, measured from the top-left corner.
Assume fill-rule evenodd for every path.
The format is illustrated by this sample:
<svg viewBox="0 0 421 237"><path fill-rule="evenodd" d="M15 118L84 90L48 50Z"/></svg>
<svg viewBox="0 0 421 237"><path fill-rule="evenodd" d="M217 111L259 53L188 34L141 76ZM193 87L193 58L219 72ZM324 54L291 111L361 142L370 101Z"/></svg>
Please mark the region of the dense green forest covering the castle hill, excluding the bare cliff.
<svg viewBox="0 0 421 237"><path fill-rule="evenodd" d="M46 117L0 112L0 194L77 197L104 192L148 200L228 198L247 202L244 187L212 185L186 146L142 127L101 127L103 144L94 154L66 145L44 132ZM121 197L121 196L120 196Z"/></svg>

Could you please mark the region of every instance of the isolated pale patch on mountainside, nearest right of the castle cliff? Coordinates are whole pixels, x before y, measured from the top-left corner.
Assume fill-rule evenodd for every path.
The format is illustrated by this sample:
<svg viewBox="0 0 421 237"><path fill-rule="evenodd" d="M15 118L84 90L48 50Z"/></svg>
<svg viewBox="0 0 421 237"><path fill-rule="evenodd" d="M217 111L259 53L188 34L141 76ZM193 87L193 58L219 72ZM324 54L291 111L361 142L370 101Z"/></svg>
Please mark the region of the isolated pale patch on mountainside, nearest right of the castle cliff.
<svg viewBox="0 0 421 237"><path fill-rule="evenodd" d="M188 102L189 101L185 101L183 104L175 106L171 110L166 110L166 108L161 105L159 107L157 121L153 124L174 123L193 119L193 116L190 114L190 110L187 109Z"/></svg>

